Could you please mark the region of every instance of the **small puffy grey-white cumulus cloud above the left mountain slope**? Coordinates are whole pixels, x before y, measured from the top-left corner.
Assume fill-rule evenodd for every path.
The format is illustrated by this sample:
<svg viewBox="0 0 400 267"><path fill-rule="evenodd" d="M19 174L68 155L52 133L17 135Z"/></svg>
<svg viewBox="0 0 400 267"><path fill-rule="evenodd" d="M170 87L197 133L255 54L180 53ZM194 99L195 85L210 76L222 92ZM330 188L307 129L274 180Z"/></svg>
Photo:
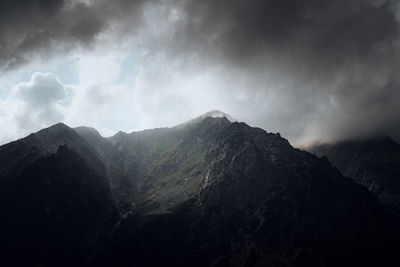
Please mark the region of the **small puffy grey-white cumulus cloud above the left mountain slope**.
<svg viewBox="0 0 400 267"><path fill-rule="evenodd" d="M22 137L32 131L63 121L75 88L52 73L32 74L30 81L14 86L0 101L0 142Z"/></svg>

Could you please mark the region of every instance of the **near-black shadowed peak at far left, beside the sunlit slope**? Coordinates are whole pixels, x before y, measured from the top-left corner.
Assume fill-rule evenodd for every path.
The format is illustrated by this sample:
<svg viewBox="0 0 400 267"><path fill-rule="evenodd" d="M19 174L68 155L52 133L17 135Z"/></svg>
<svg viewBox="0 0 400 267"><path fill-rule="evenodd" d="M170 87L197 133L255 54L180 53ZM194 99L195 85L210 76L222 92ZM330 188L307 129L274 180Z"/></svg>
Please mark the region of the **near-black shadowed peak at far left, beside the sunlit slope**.
<svg viewBox="0 0 400 267"><path fill-rule="evenodd" d="M55 125L0 155L0 265L87 264L119 218L93 149Z"/></svg>

